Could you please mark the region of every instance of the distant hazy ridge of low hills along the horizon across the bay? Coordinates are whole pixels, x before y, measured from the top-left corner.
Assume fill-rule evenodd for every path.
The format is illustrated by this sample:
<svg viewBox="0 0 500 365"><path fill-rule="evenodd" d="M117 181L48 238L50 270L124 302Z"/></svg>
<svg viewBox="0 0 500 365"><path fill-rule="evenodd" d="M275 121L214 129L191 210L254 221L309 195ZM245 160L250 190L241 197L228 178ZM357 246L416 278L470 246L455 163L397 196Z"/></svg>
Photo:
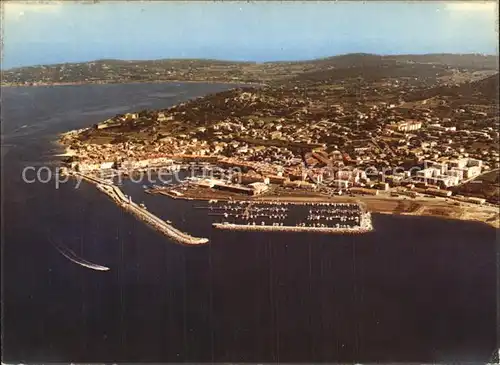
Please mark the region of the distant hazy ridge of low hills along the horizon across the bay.
<svg viewBox="0 0 500 365"><path fill-rule="evenodd" d="M234 83L282 83L336 81L361 77L425 79L498 70L497 56L478 54L430 54L381 56L347 54L296 62L235 62L220 60L164 59L152 61L97 60L14 68L2 71L2 85L52 83L125 83L207 81Z"/></svg>

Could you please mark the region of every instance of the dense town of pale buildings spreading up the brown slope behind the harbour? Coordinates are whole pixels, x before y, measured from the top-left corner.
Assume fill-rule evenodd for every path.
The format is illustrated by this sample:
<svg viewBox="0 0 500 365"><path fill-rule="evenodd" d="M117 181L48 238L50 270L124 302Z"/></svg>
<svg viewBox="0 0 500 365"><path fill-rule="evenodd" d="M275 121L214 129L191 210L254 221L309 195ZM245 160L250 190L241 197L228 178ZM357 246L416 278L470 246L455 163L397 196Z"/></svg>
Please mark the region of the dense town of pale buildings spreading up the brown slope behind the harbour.
<svg viewBox="0 0 500 365"><path fill-rule="evenodd" d="M429 75L232 89L117 115L62 141L80 170L173 158L260 176L241 176L248 184L330 193L446 190L500 168L498 74L457 85Z"/></svg>

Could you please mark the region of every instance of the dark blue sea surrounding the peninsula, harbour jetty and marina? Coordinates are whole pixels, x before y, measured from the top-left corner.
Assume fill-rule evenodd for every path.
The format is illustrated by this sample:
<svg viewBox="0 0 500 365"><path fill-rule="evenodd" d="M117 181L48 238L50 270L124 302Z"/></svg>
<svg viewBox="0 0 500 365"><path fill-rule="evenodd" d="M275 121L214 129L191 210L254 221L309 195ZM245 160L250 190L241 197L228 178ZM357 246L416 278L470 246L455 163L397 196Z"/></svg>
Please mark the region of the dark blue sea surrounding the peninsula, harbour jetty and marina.
<svg viewBox="0 0 500 365"><path fill-rule="evenodd" d="M23 181L26 167L54 168L58 133L231 87L2 88L2 361L491 360L498 231L482 223L373 214L362 235L220 231L199 202L128 187L210 239L186 247L93 185Z"/></svg>

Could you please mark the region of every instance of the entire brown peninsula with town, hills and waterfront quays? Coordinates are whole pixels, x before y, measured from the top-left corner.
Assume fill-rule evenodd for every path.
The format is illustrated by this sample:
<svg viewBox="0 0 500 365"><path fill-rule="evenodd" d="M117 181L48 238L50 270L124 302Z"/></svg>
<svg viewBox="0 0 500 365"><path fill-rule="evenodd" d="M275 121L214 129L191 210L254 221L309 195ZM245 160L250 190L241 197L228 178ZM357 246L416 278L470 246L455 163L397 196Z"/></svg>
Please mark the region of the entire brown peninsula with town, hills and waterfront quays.
<svg viewBox="0 0 500 365"><path fill-rule="evenodd" d="M110 169L196 168L179 184L148 189L174 199L361 204L365 212L499 227L498 70L488 57L357 54L298 64L273 63L267 78L237 78L260 86L65 133L64 165L90 180ZM303 228L325 233L325 222ZM205 242L189 240L183 243Z"/></svg>

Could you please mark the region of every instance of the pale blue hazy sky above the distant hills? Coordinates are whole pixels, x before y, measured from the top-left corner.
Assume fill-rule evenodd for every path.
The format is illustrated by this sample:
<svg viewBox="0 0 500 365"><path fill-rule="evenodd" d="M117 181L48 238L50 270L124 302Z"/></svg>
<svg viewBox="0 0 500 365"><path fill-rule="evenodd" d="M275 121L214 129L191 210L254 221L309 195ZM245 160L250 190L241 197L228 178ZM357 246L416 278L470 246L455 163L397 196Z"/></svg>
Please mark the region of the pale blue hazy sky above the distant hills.
<svg viewBox="0 0 500 365"><path fill-rule="evenodd" d="M2 3L3 69L104 58L498 53L496 2Z"/></svg>

